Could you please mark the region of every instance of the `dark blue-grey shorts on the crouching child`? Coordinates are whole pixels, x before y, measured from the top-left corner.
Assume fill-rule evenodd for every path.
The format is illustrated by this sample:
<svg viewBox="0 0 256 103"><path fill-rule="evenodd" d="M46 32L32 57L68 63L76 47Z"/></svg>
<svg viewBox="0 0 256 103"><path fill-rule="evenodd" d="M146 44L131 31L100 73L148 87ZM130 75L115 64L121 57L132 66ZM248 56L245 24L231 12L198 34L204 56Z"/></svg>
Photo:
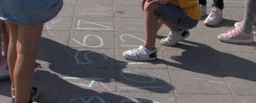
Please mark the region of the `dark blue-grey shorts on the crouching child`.
<svg viewBox="0 0 256 103"><path fill-rule="evenodd" d="M161 21L186 30L192 29L199 22L191 19L184 10L171 3L158 4L156 15Z"/></svg>

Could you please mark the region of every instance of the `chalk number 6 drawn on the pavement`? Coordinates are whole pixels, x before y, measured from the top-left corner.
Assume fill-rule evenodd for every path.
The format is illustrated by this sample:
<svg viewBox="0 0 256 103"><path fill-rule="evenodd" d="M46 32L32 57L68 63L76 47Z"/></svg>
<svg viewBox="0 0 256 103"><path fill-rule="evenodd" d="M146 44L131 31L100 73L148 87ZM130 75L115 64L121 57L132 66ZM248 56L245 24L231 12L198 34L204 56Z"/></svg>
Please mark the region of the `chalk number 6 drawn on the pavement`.
<svg viewBox="0 0 256 103"><path fill-rule="evenodd" d="M89 36L95 36L95 37L97 37L97 38L99 39L99 41L100 41L100 45L98 45L98 46L86 45L86 39L87 39ZM80 44L80 45L83 45L83 46L85 46L85 47L94 47L94 48L96 48L96 47L102 47L102 45L103 45L103 39L102 39L100 36L96 36L96 35L94 35L94 34L88 34L88 35L84 36L84 38L82 39L83 43L80 43L79 41L75 40L75 38L72 38L72 39L73 39L73 41L75 41L76 43L78 43L78 44Z"/></svg>

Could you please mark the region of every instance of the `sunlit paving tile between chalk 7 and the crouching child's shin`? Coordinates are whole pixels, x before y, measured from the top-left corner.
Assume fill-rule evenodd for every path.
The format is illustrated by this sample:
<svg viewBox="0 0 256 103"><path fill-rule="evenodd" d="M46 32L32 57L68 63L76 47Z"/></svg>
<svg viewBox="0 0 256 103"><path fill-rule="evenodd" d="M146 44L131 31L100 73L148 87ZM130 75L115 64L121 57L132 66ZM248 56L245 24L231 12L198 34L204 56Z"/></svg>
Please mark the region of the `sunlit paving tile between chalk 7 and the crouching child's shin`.
<svg viewBox="0 0 256 103"><path fill-rule="evenodd" d="M142 18L116 18L117 32L144 32L145 22Z"/></svg>

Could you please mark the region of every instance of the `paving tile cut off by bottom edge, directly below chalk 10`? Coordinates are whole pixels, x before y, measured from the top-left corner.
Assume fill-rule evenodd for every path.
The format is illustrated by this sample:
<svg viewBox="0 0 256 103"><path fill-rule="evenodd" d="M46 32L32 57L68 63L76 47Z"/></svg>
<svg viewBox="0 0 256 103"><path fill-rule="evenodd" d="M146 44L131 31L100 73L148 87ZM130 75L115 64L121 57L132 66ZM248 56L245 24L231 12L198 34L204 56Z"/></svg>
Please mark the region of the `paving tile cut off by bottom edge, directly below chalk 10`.
<svg viewBox="0 0 256 103"><path fill-rule="evenodd" d="M118 103L175 103L173 93L118 93L126 98L118 98ZM129 99L127 99L129 98Z"/></svg>

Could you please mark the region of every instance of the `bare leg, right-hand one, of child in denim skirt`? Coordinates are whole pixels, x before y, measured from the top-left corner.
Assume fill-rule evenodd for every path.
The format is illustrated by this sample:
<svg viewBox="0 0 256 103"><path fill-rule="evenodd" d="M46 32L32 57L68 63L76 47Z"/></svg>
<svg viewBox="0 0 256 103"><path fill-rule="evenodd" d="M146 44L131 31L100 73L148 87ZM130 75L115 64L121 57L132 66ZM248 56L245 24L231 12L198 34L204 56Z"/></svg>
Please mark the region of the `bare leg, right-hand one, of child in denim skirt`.
<svg viewBox="0 0 256 103"><path fill-rule="evenodd" d="M12 23L8 23L8 25L9 24L14 25ZM12 26L10 26L11 36L12 29L15 29L12 28ZM37 47L42 34L43 25L34 27L18 25L17 28L17 60L13 76L15 82L15 102L27 103L30 99L30 92L33 85L35 57L37 55ZM12 37L10 37L10 40L12 40ZM10 44L9 48L11 47L12 45ZM8 56L9 55L10 54L8 54Z"/></svg>

